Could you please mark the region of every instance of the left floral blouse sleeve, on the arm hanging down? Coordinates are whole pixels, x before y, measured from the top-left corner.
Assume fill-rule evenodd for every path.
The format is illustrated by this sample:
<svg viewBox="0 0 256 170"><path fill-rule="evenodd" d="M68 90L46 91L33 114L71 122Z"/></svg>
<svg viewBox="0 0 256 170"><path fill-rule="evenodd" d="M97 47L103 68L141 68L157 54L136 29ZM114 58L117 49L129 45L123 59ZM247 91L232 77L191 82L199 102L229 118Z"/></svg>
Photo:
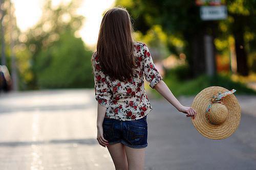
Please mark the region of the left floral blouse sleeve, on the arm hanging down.
<svg viewBox="0 0 256 170"><path fill-rule="evenodd" d="M109 88L106 76L103 74L101 67L98 62L97 56L93 54L93 75L94 75L94 89L95 89L95 99L98 103L106 108L110 106L112 99L112 91Z"/></svg>

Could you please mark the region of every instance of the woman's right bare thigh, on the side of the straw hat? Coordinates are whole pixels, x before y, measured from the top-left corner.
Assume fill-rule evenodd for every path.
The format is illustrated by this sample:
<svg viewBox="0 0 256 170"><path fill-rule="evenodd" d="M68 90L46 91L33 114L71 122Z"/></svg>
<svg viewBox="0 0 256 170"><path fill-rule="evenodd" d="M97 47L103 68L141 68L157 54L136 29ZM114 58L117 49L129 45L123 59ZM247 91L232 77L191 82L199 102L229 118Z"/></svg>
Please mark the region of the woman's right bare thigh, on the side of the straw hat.
<svg viewBox="0 0 256 170"><path fill-rule="evenodd" d="M143 170L145 163L145 148L134 149L124 145L129 170Z"/></svg>

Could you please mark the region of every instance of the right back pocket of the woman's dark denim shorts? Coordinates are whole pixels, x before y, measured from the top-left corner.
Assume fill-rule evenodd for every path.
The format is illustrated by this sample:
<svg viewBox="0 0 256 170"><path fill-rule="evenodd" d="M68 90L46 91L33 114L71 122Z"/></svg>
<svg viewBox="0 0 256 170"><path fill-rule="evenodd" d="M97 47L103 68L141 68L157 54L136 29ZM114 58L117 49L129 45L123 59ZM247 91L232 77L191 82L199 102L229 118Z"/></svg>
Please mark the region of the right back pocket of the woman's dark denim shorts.
<svg viewBox="0 0 256 170"><path fill-rule="evenodd" d="M142 145L146 143L146 128L133 124L133 125L128 125L127 127L128 132L127 132L127 141L129 141L131 144L134 145Z"/></svg>

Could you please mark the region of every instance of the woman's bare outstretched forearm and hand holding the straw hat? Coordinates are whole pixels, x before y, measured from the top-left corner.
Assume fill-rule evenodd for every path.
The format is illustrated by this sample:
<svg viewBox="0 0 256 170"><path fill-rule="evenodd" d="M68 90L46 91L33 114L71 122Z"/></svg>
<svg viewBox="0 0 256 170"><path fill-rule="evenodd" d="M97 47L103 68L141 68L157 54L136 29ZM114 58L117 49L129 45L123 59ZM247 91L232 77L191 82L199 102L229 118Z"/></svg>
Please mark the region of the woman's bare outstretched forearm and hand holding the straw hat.
<svg viewBox="0 0 256 170"><path fill-rule="evenodd" d="M193 116L195 118L196 111L192 107L185 107L180 104L163 80L159 81L154 88L178 111L188 114L187 117Z"/></svg>

